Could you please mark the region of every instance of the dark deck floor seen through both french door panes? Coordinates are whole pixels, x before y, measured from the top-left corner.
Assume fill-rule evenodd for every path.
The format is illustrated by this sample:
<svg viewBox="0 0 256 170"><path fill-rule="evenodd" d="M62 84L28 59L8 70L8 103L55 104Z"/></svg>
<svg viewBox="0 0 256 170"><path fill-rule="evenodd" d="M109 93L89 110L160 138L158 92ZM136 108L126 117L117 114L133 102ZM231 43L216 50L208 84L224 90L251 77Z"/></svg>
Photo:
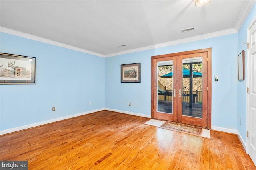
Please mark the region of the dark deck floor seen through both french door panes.
<svg viewBox="0 0 256 170"><path fill-rule="evenodd" d="M182 104L182 115L201 117L202 116L202 104L193 103L193 107L189 107L189 103L183 102ZM172 102L158 100L158 111L164 113L172 113Z"/></svg>

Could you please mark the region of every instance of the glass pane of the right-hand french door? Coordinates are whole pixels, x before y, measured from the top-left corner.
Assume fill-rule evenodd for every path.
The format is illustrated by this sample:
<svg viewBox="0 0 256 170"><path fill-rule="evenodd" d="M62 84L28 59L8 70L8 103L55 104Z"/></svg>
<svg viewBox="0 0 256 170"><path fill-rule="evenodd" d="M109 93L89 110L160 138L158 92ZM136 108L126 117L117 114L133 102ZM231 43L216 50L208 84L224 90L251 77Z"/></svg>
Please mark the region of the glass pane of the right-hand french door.
<svg viewBox="0 0 256 170"><path fill-rule="evenodd" d="M182 115L202 118L202 57L182 59Z"/></svg>

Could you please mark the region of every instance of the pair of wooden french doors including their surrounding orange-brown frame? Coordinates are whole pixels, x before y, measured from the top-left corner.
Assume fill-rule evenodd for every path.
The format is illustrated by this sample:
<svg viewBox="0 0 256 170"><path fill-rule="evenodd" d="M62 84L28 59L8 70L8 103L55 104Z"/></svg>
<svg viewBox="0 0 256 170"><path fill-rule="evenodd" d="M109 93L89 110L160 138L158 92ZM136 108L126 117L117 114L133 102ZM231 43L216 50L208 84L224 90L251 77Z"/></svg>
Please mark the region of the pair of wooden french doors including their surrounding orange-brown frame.
<svg viewBox="0 0 256 170"><path fill-rule="evenodd" d="M210 53L201 49L152 57L152 118L211 128Z"/></svg>

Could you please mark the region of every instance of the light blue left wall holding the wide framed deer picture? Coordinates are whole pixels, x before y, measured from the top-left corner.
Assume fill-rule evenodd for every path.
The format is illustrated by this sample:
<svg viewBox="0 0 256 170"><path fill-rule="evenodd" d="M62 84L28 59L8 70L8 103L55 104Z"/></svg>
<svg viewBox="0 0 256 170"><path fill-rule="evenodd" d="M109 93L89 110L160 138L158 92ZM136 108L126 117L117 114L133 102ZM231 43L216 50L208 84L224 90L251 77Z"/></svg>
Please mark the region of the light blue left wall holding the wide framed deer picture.
<svg viewBox="0 0 256 170"><path fill-rule="evenodd" d="M37 78L0 85L0 131L105 107L104 58L7 33L0 52L36 57Z"/></svg>

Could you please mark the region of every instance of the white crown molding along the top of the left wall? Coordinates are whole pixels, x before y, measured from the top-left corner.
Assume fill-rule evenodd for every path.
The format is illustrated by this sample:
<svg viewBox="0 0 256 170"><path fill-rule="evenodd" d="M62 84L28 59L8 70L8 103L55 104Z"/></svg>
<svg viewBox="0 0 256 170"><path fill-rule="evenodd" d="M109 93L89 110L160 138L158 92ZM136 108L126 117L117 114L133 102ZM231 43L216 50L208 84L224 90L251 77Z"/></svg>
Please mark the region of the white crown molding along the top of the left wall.
<svg viewBox="0 0 256 170"><path fill-rule="evenodd" d="M72 49L72 50L75 50L75 51L80 51L82 53L96 55L96 56L99 56L99 57L105 57L105 55L100 54L100 53L95 53L93 51L88 51L88 50L85 50L85 49L81 49L81 48L74 47L74 46L71 46L71 45L59 43L57 41L52 41L50 39L45 39L45 38L42 38L42 37L38 37L36 35L23 33L23 32L16 31L16 30L13 30L13 29L9 29L9 28L5 28L5 27L0 27L0 32L16 35L16 36L19 36L19 37L24 37L24 38L27 38L27 39L32 39L32 40L35 40L35 41L40 41L40 42L43 42L43 43L56 45L56 46L59 46L59 47L64 47L64 48L67 48L67 49Z"/></svg>

